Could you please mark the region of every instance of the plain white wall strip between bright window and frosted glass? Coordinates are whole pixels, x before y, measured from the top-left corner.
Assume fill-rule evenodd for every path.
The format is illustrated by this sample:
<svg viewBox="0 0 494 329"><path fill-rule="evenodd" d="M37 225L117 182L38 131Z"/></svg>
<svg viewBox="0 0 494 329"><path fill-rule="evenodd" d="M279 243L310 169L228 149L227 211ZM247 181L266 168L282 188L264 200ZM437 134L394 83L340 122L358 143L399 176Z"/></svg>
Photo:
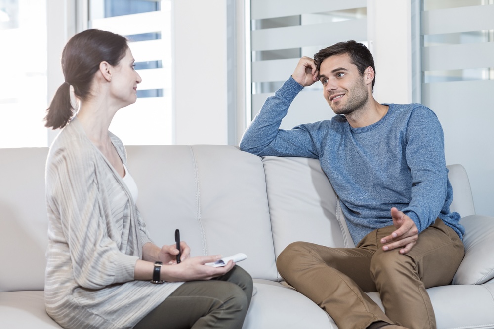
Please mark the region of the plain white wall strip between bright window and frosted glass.
<svg viewBox="0 0 494 329"><path fill-rule="evenodd" d="M228 144L226 0L172 7L176 144Z"/></svg>

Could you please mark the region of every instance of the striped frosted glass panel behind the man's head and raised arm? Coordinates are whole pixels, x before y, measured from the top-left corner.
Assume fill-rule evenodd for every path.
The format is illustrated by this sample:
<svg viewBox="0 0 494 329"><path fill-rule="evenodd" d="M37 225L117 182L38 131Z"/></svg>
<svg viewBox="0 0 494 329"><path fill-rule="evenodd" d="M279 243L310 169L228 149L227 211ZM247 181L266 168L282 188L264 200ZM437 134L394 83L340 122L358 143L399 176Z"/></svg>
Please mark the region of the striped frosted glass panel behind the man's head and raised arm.
<svg viewBox="0 0 494 329"><path fill-rule="evenodd" d="M252 116L302 56L336 42L367 42L366 0L251 0ZM333 115L318 83L293 102L282 128Z"/></svg>

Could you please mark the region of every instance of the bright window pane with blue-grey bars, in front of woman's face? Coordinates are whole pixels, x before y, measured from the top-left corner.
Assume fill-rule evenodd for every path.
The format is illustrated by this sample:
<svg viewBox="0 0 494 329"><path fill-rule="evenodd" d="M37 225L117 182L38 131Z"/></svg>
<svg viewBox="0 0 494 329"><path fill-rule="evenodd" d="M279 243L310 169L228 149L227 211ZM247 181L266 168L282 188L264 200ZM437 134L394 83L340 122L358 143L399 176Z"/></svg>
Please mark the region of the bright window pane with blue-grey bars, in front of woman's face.
<svg viewBox="0 0 494 329"><path fill-rule="evenodd" d="M110 130L127 145L171 144L171 0L90 0L88 28L124 35L142 77L137 101L115 115Z"/></svg>

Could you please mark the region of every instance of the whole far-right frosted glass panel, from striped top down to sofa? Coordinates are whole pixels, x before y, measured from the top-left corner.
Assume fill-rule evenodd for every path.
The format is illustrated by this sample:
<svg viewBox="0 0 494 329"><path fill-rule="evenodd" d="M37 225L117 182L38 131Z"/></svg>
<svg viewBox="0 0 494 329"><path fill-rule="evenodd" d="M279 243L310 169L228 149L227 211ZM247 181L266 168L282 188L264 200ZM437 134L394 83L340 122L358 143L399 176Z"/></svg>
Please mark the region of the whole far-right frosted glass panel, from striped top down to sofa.
<svg viewBox="0 0 494 329"><path fill-rule="evenodd" d="M430 10L421 16L422 103L443 125L446 162L466 167L477 213L489 213L492 184L485 182L494 181L494 148L487 146L494 122L494 5L489 2L494 1L463 1L463 7L443 1L446 8L424 2Z"/></svg>

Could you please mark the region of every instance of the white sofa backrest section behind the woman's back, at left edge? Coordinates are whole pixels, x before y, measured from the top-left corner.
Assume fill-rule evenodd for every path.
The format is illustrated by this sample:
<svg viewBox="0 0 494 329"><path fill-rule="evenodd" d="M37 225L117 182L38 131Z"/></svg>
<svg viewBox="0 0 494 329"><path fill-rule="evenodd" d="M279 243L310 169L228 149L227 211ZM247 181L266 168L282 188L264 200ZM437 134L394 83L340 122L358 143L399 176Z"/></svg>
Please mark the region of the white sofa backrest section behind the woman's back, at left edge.
<svg viewBox="0 0 494 329"><path fill-rule="evenodd" d="M0 292L44 287L47 155L47 147L0 149Z"/></svg>

